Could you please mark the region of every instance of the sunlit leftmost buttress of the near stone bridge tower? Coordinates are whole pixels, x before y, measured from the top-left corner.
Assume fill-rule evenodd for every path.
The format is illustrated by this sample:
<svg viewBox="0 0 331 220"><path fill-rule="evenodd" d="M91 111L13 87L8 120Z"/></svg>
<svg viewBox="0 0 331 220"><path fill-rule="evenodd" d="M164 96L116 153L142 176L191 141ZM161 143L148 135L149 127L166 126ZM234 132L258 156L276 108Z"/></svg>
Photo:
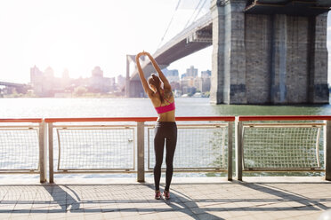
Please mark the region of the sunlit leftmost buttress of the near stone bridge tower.
<svg viewBox="0 0 331 220"><path fill-rule="evenodd" d="M246 103L246 0L213 0L211 102Z"/></svg>

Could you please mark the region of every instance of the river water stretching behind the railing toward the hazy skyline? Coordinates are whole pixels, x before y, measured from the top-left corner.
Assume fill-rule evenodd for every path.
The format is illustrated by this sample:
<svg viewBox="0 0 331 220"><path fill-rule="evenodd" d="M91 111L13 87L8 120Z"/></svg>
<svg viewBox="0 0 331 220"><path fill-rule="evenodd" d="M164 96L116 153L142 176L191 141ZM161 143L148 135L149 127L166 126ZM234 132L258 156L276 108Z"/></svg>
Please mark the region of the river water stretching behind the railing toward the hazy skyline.
<svg viewBox="0 0 331 220"><path fill-rule="evenodd" d="M0 118L157 116L149 98L0 98L0 106ZM298 114L331 115L331 106L212 105L209 98L176 98L176 116ZM197 175L201 176L201 174L175 174L174 177L195 177ZM210 174L202 174L202 176L204 175ZM58 175L58 177L75 176ZM109 176L92 174L79 177ZM133 177L133 175L117 174L116 177Z"/></svg>

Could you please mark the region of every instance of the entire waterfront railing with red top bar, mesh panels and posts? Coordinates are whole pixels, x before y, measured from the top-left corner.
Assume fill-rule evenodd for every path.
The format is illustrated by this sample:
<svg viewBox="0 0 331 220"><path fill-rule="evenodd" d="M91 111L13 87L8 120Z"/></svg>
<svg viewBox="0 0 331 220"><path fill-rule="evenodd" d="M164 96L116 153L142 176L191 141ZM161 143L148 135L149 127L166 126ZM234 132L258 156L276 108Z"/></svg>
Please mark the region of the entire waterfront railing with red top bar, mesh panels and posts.
<svg viewBox="0 0 331 220"><path fill-rule="evenodd" d="M0 174L40 174L40 182L46 181L48 146L50 183L54 174L117 172L137 173L137 181L143 182L145 172L153 169L156 120L0 119ZM322 171L331 180L331 116L177 117L176 121L174 171L227 172L231 180L235 138L238 180L243 172L260 171ZM321 137L324 167L319 157Z"/></svg>

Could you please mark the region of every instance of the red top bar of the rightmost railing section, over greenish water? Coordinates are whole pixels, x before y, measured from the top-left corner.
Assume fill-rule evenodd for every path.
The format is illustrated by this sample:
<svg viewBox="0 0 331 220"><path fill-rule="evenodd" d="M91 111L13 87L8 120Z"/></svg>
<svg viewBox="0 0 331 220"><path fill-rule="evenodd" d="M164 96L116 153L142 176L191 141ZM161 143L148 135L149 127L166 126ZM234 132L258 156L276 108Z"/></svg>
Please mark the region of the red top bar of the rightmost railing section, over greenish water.
<svg viewBox="0 0 331 220"><path fill-rule="evenodd" d="M331 115L265 115L239 116L240 122L248 121L321 121L331 120Z"/></svg>

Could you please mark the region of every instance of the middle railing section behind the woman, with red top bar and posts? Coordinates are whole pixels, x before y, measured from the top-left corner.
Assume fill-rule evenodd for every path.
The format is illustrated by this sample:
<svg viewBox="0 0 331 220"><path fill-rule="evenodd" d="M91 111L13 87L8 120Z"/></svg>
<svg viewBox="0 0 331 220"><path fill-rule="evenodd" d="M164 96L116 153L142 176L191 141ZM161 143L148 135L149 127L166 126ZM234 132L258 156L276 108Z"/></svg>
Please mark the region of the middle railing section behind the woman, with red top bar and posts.
<svg viewBox="0 0 331 220"><path fill-rule="evenodd" d="M148 164L153 162L152 149L153 142L152 125L145 122L155 122L156 117L131 117L131 118L46 118L44 121L48 124L48 146L49 146L49 181L53 182L54 174L65 173L115 173L115 172L136 172L137 181L143 182L145 172L151 170L150 166L145 169L145 129L150 134L148 141ZM206 166L192 165L188 161L184 166L179 166L174 171L217 171L228 172L228 179L232 179L232 147L227 147L227 158L225 159L225 130L229 134L227 137L227 146L232 146L232 130L235 117L176 117L177 123L180 122L227 122L227 123L205 123L205 124L178 124L179 136L185 138L182 130L205 130L203 136L206 140L206 130L222 130L222 151L213 152L213 144L207 145L201 142L197 145L190 145L189 153L195 153L199 158L208 156L207 159L213 158L219 160L217 156L222 157L222 164L209 164ZM67 124L59 124L67 122ZM75 124L68 124L75 123ZM91 125L82 125L79 123L93 122ZM113 122L106 124L105 122ZM115 122L115 124L114 124ZM133 122L133 124L118 124L118 122ZM77 124L78 123L78 124ZM116 124L117 123L117 124ZM58 137L59 153L58 166L54 171L54 138L53 131L56 130ZM134 132L136 130L136 132ZM210 133L210 132L209 132ZM181 135L182 134L182 135ZM193 132L190 132L192 138ZM196 132L197 134L197 132ZM135 138L136 137L136 138ZM202 137L202 136L201 136ZM213 138L209 138L210 141ZM136 141L135 141L136 139ZM217 138L216 138L217 139ZM187 139L189 140L189 139ZM203 140L202 140L203 141ZM137 146L135 146L135 144ZM190 144L190 143L189 143ZM195 151L192 151L193 147ZM208 149L208 151L206 151ZM135 150L137 153L135 153ZM182 149L177 147L178 153L175 153L180 159ZM199 153L197 151L200 151ZM185 153L188 154L188 153ZM99 155L95 157L95 155ZM114 156L112 156L114 155ZM215 157L216 155L216 157ZM135 157L137 168L135 168ZM189 156L190 157L190 156ZM192 159L192 158L190 158ZM116 162L114 162L116 161ZM183 160L182 160L183 161ZM185 160L184 160L185 161ZM225 169L225 161L227 169ZM221 166L222 165L222 166Z"/></svg>

